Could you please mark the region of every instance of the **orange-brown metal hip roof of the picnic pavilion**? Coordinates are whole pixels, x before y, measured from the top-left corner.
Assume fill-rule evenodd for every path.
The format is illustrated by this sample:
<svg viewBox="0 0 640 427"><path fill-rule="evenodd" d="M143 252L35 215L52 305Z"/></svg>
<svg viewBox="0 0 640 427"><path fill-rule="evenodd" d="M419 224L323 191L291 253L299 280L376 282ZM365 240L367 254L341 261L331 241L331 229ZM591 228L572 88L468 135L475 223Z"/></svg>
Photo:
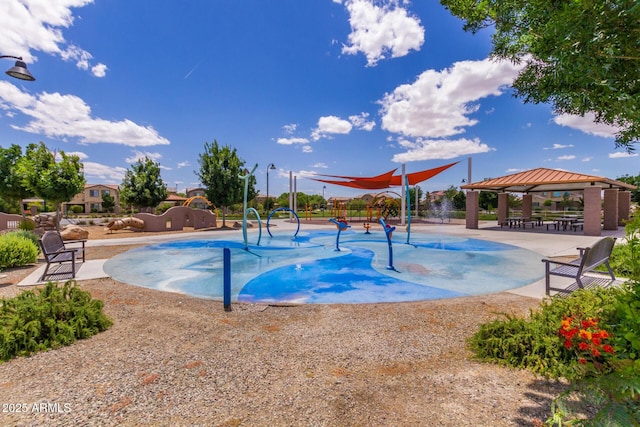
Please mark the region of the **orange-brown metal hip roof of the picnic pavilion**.
<svg viewBox="0 0 640 427"><path fill-rule="evenodd" d="M587 187L618 188L635 190L636 186L615 179L585 175L558 169L537 168L500 178L487 179L463 185L463 190L484 190L511 193L542 191L579 191Z"/></svg>

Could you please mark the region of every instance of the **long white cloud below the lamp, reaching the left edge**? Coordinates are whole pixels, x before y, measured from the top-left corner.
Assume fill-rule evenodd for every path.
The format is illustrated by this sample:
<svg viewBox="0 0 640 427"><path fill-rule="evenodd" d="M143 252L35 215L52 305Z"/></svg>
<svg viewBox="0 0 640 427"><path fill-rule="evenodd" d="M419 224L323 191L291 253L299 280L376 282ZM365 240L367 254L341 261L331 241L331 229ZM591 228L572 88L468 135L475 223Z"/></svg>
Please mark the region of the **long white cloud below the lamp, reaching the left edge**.
<svg viewBox="0 0 640 427"><path fill-rule="evenodd" d="M79 97L42 92L31 95L11 83L0 81L0 108L17 110L32 120L25 126L12 125L49 138L78 138L81 144L111 143L130 147L168 145L151 126L131 120L109 121L91 116L91 108Z"/></svg>

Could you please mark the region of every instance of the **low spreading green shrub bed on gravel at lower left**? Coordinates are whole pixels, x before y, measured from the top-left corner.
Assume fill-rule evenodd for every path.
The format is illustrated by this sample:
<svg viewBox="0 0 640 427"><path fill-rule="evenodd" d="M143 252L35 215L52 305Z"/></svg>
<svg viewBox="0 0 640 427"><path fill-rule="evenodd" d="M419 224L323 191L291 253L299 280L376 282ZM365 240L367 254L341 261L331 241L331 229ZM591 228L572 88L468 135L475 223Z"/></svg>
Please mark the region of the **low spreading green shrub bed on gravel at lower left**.
<svg viewBox="0 0 640 427"><path fill-rule="evenodd" d="M0 361L69 345L108 329L103 303L75 281L0 300Z"/></svg>

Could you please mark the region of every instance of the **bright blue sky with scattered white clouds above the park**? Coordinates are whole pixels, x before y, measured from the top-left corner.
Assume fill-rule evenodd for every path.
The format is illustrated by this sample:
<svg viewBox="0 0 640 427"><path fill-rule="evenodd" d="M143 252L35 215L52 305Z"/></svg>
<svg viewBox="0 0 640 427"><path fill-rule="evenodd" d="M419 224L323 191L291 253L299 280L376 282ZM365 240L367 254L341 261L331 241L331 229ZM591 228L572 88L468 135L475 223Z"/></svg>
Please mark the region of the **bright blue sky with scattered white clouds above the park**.
<svg viewBox="0 0 640 427"><path fill-rule="evenodd" d="M525 105L489 30L435 1L0 0L0 146L43 141L80 156L88 183L120 184L146 156L180 191L204 143L237 148L257 188L322 194L311 173L373 176L460 164L426 191L537 167L616 178L637 154L616 129ZM4 69L13 64L2 60ZM327 185L325 197L362 192Z"/></svg>

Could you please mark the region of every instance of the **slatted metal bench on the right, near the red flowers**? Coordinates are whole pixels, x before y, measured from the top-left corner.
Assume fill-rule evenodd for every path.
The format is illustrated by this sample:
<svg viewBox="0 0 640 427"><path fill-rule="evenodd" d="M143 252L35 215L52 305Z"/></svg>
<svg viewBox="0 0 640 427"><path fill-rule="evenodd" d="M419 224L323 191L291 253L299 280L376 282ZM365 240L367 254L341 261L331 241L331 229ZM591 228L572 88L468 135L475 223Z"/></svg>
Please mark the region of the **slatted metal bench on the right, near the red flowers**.
<svg viewBox="0 0 640 427"><path fill-rule="evenodd" d="M576 289L595 286L608 286L615 282L616 277L609 265L609 257L615 245L615 237L605 237L598 240L593 246L578 248L580 257L570 262L545 258L545 290L547 295L551 291L569 293ZM594 271L599 265L607 267L606 273ZM587 275L586 273L590 273ZM551 276L569 277L573 283L564 288L552 287Z"/></svg>

